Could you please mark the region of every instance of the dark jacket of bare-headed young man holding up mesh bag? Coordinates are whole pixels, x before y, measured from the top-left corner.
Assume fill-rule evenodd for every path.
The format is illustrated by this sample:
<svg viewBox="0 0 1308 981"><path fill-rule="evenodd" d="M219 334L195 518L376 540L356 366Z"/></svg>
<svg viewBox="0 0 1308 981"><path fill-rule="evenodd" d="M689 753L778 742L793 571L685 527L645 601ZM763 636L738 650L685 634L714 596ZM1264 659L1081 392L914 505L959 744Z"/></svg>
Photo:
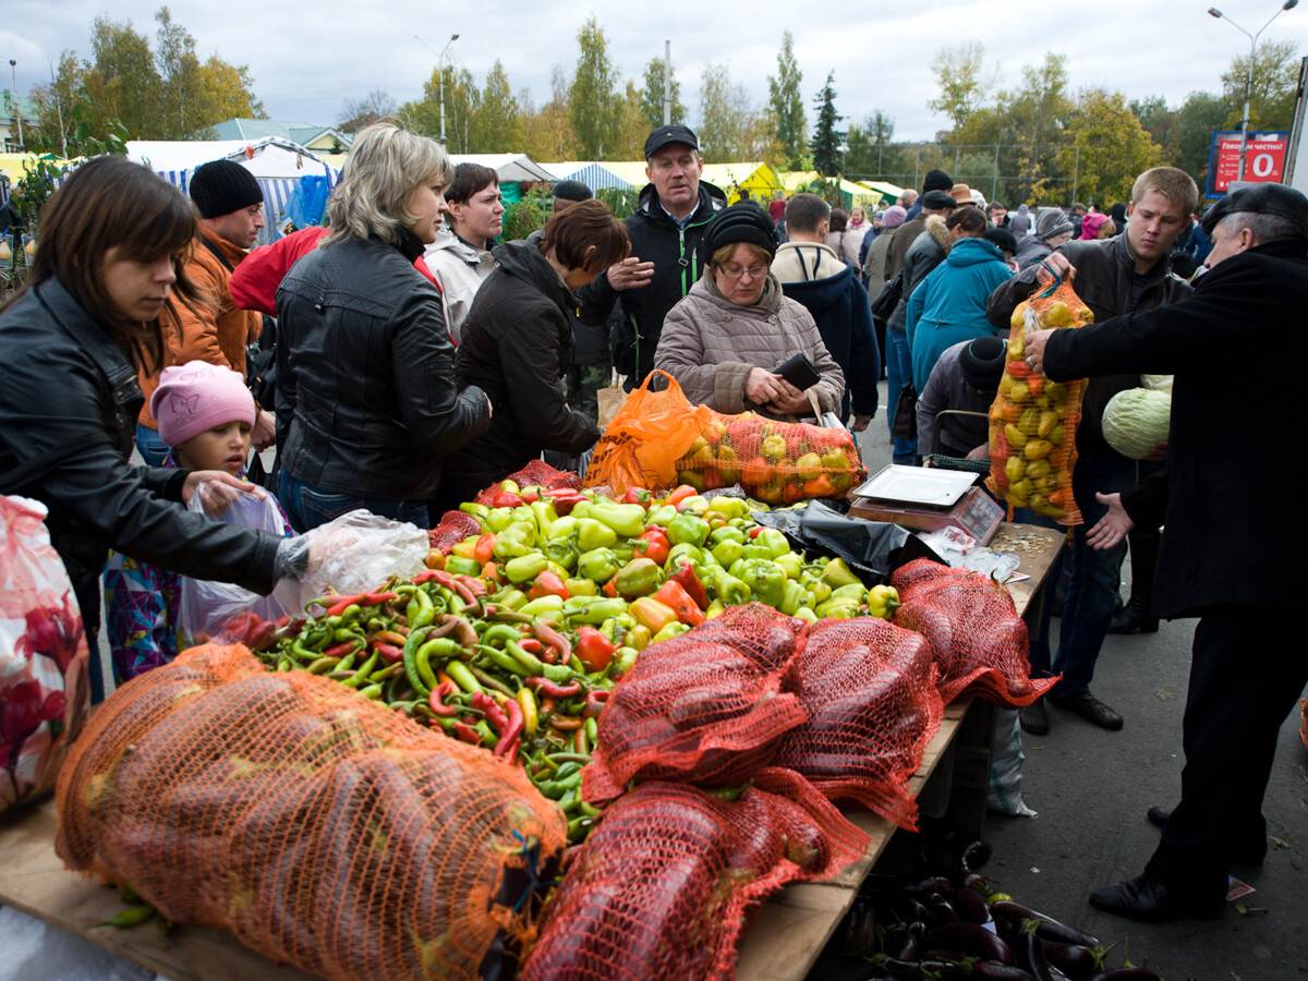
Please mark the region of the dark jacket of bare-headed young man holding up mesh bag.
<svg viewBox="0 0 1308 981"><path fill-rule="evenodd" d="M1154 263L1154 268L1144 275L1139 296L1133 305L1131 284L1135 277L1135 256L1131 255L1130 241L1126 235L1100 238L1093 242L1065 242L1058 246L1057 251L1066 255L1067 262L1076 269L1076 280L1073 285L1076 296L1095 314L1095 323L1122 314L1156 310L1160 306L1185 300L1193 292L1190 284L1168 272L1167 259L1163 258ZM1010 318L1018 303L1039 289L1040 284L1036 279L1039 271L1037 263L995 288L990 300L986 301L986 317L990 318L991 324L1001 330L1010 326ZM1126 458L1113 450L1104 439L1101 424L1108 400L1117 392L1135 388L1138 385L1139 373L1109 374L1090 379L1082 395L1080 422L1076 425L1076 453L1079 455L1110 456L1125 466Z"/></svg>

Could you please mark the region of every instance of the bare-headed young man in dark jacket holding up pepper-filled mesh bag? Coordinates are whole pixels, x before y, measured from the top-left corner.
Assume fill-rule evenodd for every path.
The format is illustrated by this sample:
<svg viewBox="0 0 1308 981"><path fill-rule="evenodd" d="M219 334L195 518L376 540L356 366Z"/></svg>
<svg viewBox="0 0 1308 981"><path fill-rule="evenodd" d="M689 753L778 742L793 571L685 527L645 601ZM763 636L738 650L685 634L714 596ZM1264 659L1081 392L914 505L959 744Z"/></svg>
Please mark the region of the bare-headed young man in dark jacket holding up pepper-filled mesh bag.
<svg viewBox="0 0 1308 981"><path fill-rule="evenodd" d="M1168 272L1167 251L1185 228L1198 201L1198 188L1184 170L1154 167L1141 174L1131 188L1130 224L1125 235L1099 241L1067 242L1042 263L1023 269L1001 284L986 302L986 317L995 327L1008 327L1012 310L1058 276L1076 271L1076 294L1095 314L1095 322L1142 310L1156 310L1190 294L1190 286ZM1121 729L1122 717L1090 692L1095 662L1104 644L1117 594L1117 569L1125 544L1100 551L1086 543L1087 530L1107 513L1099 493L1116 493L1135 484L1135 462L1122 456L1104 439L1100 419L1108 400L1134 388L1138 374L1118 373L1091 378L1082 399L1076 429L1076 467L1073 497L1084 515L1074 528L1071 583L1063 607L1058 653L1050 658L1046 603L1040 630L1031 641L1031 674L1046 678L1062 674L1049 700L1103 729ZM1044 700L1020 713L1022 727L1032 734L1049 731Z"/></svg>

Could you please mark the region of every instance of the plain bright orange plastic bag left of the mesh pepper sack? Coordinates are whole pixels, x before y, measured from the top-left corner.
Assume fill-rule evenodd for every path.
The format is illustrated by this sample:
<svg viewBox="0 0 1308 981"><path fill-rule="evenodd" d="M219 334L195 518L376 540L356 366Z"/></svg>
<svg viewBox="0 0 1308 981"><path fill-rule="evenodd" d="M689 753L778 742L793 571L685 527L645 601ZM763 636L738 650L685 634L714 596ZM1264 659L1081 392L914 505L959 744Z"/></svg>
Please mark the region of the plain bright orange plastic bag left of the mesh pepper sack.
<svg viewBox="0 0 1308 981"><path fill-rule="evenodd" d="M650 390L654 375L667 379L666 390ZM712 417L713 411L706 405L691 404L672 375L650 371L599 437L586 470L586 487L606 484L617 496L633 487L646 490L676 487L678 458Z"/></svg>

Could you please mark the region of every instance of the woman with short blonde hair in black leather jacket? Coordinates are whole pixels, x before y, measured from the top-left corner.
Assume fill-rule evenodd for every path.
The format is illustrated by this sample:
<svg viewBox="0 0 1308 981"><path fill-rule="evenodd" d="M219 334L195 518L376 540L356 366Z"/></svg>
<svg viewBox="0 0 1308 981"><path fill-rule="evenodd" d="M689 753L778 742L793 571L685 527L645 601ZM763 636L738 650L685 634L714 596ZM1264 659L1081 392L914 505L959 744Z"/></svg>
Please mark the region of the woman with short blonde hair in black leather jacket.
<svg viewBox="0 0 1308 981"><path fill-rule="evenodd" d="M441 294L413 268L453 174L436 140L361 131L331 234L277 289L280 497L297 530L356 508L428 527L443 459L490 421L485 392L455 386Z"/></svg>

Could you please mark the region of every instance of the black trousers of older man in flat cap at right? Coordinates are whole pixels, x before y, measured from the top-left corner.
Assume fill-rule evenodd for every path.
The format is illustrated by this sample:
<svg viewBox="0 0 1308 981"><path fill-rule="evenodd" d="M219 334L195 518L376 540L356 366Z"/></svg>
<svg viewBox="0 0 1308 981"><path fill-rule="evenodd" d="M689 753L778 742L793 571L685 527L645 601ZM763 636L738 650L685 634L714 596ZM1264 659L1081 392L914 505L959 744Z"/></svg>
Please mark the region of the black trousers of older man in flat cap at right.
<svg viewBox="0 0 1308 981"><path fill-rule="evenodd" d="M1226 895L1232 852L1266 842L1262 795L1281 723L1308 683L1300 619L1226 606L1205 611L1194 630L1181 802L1144 874L1201 903Z"/></svg>

